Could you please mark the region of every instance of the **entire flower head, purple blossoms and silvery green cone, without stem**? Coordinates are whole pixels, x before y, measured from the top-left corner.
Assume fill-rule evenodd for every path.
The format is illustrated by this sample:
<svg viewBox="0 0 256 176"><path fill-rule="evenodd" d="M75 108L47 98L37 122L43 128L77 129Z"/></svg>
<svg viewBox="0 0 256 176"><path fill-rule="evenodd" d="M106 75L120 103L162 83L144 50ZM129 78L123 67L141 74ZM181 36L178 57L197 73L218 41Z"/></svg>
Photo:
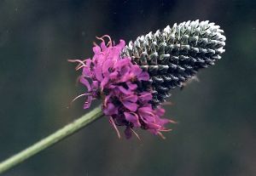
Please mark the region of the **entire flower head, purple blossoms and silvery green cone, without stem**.
<svg viewBox="0 0 256 176"><path fill-rule="evenodd" d="M86 96L84 109L92 99L102 99L102 111L118 135L116 126L126 127L127 138L135 133L133 128L162 136L170 130L166 123L173 121L161 118L165 110L160 103L172 88L220 59L225 44L222 32L214 23L196 20L150 32L128 46L123 40L114 45L107 35L97 37L102 43L93 48L92 59L72 60L79 62L77 70L83 69L80 82L87 92L79 97Z"/></svg>

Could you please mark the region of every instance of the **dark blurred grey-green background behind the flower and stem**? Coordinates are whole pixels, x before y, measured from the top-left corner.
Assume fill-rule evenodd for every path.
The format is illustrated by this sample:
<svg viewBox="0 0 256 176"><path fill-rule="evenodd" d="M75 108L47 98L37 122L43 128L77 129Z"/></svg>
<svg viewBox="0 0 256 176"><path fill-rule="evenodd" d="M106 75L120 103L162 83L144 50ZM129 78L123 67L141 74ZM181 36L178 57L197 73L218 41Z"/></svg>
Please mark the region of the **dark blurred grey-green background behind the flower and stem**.
<svg viewBox="0 0 256 176"><path fill-rule="evenodd" d="M226 52L173 91L166 140L118 139L103 118L3 175L256 175L255 0L1 0L0 160L87 112L83 99L68 108L84 87L67 59L90 57L96 36L128 42L197 19L224 29Z"/></svg>

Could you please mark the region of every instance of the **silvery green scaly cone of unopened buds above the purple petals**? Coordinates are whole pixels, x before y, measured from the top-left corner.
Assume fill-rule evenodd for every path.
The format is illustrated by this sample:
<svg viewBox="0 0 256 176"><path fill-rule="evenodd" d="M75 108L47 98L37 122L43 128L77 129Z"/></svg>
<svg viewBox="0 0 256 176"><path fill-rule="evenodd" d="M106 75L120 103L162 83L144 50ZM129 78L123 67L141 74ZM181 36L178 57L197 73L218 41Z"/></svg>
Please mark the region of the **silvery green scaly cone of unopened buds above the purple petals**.
<svg viewBox="0 0 256 176"><path fill-rule="evenodd" d="M153 88L153 105L164 102L170 90L183 86L201 68L214 65L224 53L226 37L214 23L187 21L163 31L149 32L125 46L123 55L148 71Z"/></svg>

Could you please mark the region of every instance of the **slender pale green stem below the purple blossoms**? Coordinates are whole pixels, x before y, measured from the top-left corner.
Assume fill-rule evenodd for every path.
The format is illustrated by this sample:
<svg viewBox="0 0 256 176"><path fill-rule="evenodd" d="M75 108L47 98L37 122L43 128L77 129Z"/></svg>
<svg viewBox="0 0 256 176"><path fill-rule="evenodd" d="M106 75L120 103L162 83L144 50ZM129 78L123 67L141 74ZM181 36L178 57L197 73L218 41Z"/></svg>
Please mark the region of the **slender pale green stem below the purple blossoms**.
<svg viewBox="0 0 256 176"><path fill-rule="evenodd" d="M64 128L59 129L55 133L50 134L48 137L38 141L38 143L31 145L26 148L26 150L20 151L20 153L15 156L9 157L7 160L0 163L0 174L9 170L12 167L15 167L20 162L25 161L29 157L37 154L38 152L48 148L51 145L56 144L62 139L67 138L69 135L76 133L79 129L84 128L90 122L96 121L96 119L103 116L101 106L96 107L94 110L90 111L88 114L81 116L79 119L68 124Z"/></svg>

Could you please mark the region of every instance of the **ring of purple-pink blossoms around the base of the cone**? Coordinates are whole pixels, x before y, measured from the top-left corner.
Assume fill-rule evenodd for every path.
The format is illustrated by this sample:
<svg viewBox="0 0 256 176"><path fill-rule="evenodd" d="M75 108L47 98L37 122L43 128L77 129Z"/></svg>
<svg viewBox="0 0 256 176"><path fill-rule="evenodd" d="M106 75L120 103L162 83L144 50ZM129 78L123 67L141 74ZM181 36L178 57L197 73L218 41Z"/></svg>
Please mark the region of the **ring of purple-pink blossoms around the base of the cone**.
<svg viewBox="0 0 256 176"><path fill-rule="evenodd" d="M148 82L149 74L139 65L132 63L128 56L121 57L125 41L114 44L108 37L108 44L103 36L100 46L93 47L94 56L87 60L70 60L79 62L77 70L83 69L79 80L87 88L84 109L90 107L92 99L102 99L102 111L109 117L109 122L116 129L125 126L125 137L131 138L134 128L143 128L161 137L162 131L168 131L166 123L172 122L161 118L165 110L151 104L152 88L139 88L142 82ZM78 97L78 98L79 98ZM137 135L137 133L135 133Z"/></svg>

